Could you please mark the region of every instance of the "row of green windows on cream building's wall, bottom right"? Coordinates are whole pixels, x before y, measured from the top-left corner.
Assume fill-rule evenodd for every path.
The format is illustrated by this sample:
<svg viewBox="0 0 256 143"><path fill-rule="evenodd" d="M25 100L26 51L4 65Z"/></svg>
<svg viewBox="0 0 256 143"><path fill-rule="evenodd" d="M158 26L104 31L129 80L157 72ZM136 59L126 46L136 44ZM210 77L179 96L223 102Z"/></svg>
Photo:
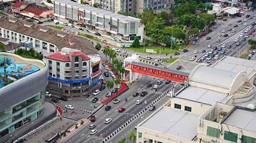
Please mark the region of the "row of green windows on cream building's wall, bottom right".
<svg viewBox="0 0 256 143"><path fill-rule="evenodd" d="M216 129L214 127L207 127L206 134L207 134L207 136L210 136L210 137L219 138L220 130ZM237 137L238 137L237 133L228 132L228 131L224 132L224 139L225 140L228 140L228 141L231 141L231 142L237 142ZM249 142L256 142L256 138L247 137L247 136L242 135L242 143L249 143Z"/></svg>

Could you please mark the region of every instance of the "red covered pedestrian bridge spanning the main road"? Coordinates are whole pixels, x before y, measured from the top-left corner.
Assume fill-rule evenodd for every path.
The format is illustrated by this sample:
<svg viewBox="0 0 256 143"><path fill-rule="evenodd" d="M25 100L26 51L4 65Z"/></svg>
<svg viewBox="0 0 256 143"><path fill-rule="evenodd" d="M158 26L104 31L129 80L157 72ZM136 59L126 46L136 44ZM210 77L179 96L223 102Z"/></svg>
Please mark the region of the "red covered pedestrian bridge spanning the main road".
<svg viewBox="0 0 256 143"><path fill-rule="evenodd" d="M145 74L152 77L157 77L160 79L167 79L174 82L185 82L188 80L189 73L167 69L160 66L153 66L150 64L144 64L141 62L132 61L131 63L125 64L124 69L139 73Z"/></svg>

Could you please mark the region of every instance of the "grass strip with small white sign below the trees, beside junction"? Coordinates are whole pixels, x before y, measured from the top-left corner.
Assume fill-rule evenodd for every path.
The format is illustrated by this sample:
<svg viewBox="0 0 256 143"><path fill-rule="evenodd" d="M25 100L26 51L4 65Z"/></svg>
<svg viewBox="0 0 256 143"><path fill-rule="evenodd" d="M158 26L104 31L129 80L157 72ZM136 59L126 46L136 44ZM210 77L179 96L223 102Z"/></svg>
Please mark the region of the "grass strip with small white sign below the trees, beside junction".
<svg viewBox="0 0 256 143"><path fill-rule="evenodd" d="M154 49L154 51L157 51L157 54L173 54L175 51L179 51L185 48L185 45L177 45L175 46L175 49L171 49L168 47L163 46L145 46L145 49L143 47L140 48L127 48L132 51L138 51L142 53L146 53L146 49Z"/></svg>

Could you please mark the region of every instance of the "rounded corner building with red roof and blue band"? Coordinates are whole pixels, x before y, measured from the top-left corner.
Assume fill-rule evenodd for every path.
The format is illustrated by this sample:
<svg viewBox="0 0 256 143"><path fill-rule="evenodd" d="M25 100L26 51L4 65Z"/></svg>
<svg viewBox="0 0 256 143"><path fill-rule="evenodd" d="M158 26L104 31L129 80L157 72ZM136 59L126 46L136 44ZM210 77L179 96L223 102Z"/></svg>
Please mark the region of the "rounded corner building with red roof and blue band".
<svg viewBox="0 0 256 143"><path fill-rule="evenodd" d="M64 98L88 95L91 81L101 73L101 58L97 57L90 58L79 50L68 48L46 56L48 91Z"/></svg>

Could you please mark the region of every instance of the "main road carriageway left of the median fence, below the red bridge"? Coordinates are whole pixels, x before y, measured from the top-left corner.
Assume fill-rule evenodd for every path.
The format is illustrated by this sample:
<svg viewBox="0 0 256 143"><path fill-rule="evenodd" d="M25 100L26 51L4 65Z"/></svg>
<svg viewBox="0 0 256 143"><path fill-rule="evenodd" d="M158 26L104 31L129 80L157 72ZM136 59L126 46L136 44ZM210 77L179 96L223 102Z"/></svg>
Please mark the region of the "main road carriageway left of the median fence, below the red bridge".
<svg viewBox="0 0 256 143"><path fill-rule="evenodd" d="M86 127L83 127L80 131L76 132L72 136L72 138L66 140L66 142L99 142L99 139L101 139L101 134L103 137L107 137L109 134L114 132L115 129L120 127L124 122L127 122L129 118L132 118L134 114L137 114L140 112L147 104L150 104L153 100L155 100L157 97L162 94L162 92L165 92L167 89L171 87L170 84L168 86L164 83L160 86L158 89L158 92L153 91L152 88L147 89L147 84L155 84L157 79L153 79L150 77L144 77L140 80L140 83L137 83L134 87L139 87L138 90L134 90L133 88L129 89L129 91L124 92L119 99L121 102L118 104L113 104L112 102L108 105L111 106L111 110L106 112L104 108L99 110L95 114L96 116L96 122L93 124L96 124L96 129L98 129L98 133L91 136L89 135L90 129L88 129L88 125ZM142 91L147 91L148 94L145 97L132 97L132 94L134 92L141 93ZM128 97L127 102L125 102L125 99L122 97ZM136 100L140 99L142 101L141 104L137 105L135 104ZM145 100L147 100L147 104L144 104ZM117 110L119 107L124 107L126 109L126 112L119 113ZM106 114L107 113L107 114ZM104 120L106 118L111 118L113 121L110 124L104 124Z"/></svg>

